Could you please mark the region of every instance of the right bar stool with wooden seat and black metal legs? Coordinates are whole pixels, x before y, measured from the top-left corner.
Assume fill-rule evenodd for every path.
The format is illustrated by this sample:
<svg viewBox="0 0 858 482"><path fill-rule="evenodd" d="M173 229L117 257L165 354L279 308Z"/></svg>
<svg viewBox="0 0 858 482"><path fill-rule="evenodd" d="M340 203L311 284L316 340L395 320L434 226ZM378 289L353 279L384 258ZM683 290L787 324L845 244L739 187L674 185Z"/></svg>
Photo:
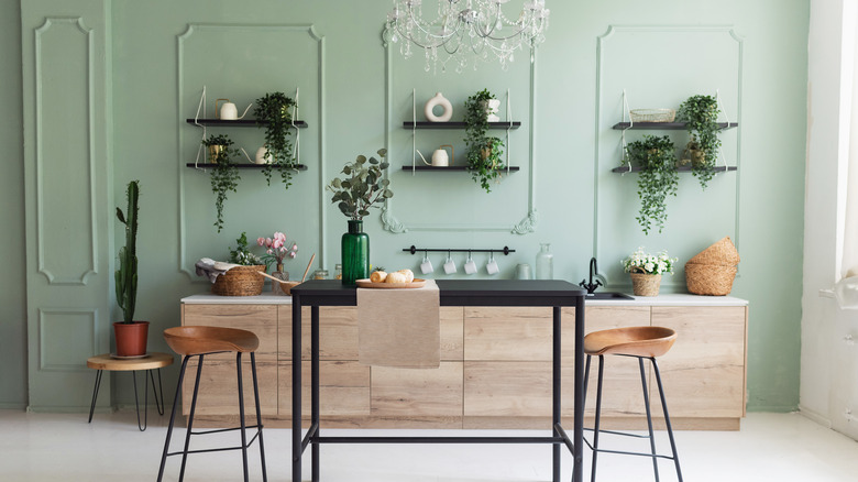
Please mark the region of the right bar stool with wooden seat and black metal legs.
<svg viewBox="0 0 858 482"><path fill-rule="evenodd" d="M661 385L661 374L659 373L659 365L656 363L656 357L661 357L667 353L668 350L676 341L676 332L670 328L662 327L631 327L631 328L615 328L610 330L594 331L584 337L584 353L587 355L586 366L584 369L584 394L586 395L587 379L590 377L590 358L598 357L598 386L596 388L596 419L593 427L593 443L587 441L587 445L593 450L593 467L591 472L591 481L596 480L596 458L598 452L606 453L620 453L628 456L644 456L652 458L652 470L656 472L656 482L659 481L659 465L658 459L673 460L676 465L676 476L682 482L682 470L680 470L679 456L676 454L676 443L673 440L673 429L670 426L670 416L668 416L668 404L664 399L664 388ZM602 413L602 375L603 375L603 361L605 354L615 354L620 357L634 357L638 359L638 366L640 366L640 383L644 386L644 405L647 409L647 426L649 427L649 436L639 436L635 434L626 434L612 430L600 430L600 417ZM664 412L664 424L668 428L668 437L670 439L670 448L673 452L672 457L659 454L656 452L656 439L652 434L652 415L649 408L649 393L647 391L647 376L644 370L644 359L648 359L652 363L652 369L656 373L656 381L659 385L659 396L661 397L661 407ZM598 448L598 435L600 434L613 434L628 437L648 438L650 445L650 453L645 452L628 452L619 450L606 450Z"/></svg>

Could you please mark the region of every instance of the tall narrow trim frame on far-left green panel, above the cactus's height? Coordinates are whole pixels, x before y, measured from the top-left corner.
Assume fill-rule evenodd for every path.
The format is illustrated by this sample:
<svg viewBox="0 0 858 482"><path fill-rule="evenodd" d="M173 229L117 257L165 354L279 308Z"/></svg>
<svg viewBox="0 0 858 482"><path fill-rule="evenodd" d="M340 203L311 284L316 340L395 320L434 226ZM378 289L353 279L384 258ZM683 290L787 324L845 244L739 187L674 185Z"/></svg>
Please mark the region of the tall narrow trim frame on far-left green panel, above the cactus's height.
<svg viewBox="0 0 858 482"><path fill-rule="evenodd" d="M44 226L44 212L45 212L45 187L44 187L44 172L45 160L43 157L44 149L43 141L45 134L43 132L43 114L42 109L44 102L42 99L43 89L43 75L45 65L43 65L44 58L42 54L42 45L44 43L45 34L51 30L54 24L70 24L77 26L77 30L84 35L86 41L86 69L87 69L87 147L89 165L89 244L90 244L90 265L79 276L75 277L73 274L55 274L50 266L45 263L45 237L48 235L48 230ZM86 285L87 278L98 273L98 238L96 235L96 140L95 140L95 111L96 108L92 105L95 99L95 87L92 85L92 62L94 62L94 44L92 44L92 29L87 28L84 24L81 17L48 17L45 18L45 22L35 30L35 215L36 215L36 258L38 273L42 273L50 285Z"/></svg>

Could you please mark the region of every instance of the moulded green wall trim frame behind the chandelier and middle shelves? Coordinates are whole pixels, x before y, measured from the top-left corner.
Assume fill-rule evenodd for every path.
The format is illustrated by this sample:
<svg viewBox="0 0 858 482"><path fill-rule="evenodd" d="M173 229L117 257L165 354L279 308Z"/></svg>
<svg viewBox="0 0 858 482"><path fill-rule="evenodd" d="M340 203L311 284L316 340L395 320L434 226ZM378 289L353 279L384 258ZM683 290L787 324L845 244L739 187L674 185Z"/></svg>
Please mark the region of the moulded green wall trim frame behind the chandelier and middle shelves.
<svg viewBox="0 0 858 482"><path fill-rule="evenodd" d="M385 35L386 30L382 30L382 46L385 51L384 72L385 72L385 113L384 113L384 144L387 152L391 150L391 133L397 129L393 122L393 68L391 66L393 48L391 42ZM536 163L535 160L535 130L536 130L536 52L532 52L530 58L530 135L528 138L528 185L527 185L527 212L521 220L513 226L509 224L490 224L490 226L462 226L451 223L411 223L406 226L394 213L393 199L385 199L382 209L382 227L394 234L402 234L409 231L453 231L453 232L510 232L513 234L527 234L536 231L536 224L539 219L536 212ZM389 167L385 172L385 177L389 177Z"/></svg>

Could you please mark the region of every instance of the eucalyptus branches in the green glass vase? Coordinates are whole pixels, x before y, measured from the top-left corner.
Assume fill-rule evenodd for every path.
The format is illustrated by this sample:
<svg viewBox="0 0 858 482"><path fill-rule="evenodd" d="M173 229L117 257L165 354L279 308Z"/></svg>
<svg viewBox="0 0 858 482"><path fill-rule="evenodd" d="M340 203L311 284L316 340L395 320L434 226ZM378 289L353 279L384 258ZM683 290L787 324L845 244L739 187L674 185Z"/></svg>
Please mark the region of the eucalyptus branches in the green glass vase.
<svg viewBox="0 0 858 482"><path fill-rule="evenodd" d="M391 180L384 177L384 169L389 166L385 161L387 156L386 149L378 150L381 161L375 157L369 160L364 155L359 155L353 163L348 163L342 168L342 174L346 178L334 177L331 184L324 186L326 189L333 193L331 202L340 208L340 212L350 219L360 221L364 216L370 215L370 208L376 202L393 197L391 190Z"/></svg>

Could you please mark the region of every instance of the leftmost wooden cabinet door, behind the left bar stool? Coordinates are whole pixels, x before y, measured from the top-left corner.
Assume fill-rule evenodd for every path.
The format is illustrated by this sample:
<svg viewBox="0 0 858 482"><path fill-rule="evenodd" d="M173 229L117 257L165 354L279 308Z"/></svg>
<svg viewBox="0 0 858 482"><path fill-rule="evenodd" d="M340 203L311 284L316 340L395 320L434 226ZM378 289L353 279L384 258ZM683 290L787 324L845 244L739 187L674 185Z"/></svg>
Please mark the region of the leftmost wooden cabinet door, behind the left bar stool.
<svg viewBox="0 0 858 482"><path fill-rule="evenodd" d="M277 413L277 308L266 305L184 305L183 326L212 326L240 328L260 338L256 350L256 376L260 386L260 405L263 415ZM253 377L250 354L243 354L242 384L244 409L255 414ZM182 390L183 414L190 412L197 360L188 363ZM200 415L237 415L238 372L235 353L216 353L205 357L197 395L197 413Z"/></svg>

